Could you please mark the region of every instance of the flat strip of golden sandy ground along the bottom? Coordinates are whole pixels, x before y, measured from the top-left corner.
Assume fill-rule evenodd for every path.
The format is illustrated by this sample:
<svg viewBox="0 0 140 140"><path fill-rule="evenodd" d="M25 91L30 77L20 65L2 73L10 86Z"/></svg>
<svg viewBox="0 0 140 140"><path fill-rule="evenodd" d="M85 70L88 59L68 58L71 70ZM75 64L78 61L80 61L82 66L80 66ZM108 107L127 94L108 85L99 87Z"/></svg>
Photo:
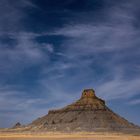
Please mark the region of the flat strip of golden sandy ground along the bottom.
<svg viewBox="0 0 140 140"><path fill-rule="evenodd" d="M40 133L11 134L0 133L0 140L140 140L140 136L126 134L96 134L96 133Z"/></svg>

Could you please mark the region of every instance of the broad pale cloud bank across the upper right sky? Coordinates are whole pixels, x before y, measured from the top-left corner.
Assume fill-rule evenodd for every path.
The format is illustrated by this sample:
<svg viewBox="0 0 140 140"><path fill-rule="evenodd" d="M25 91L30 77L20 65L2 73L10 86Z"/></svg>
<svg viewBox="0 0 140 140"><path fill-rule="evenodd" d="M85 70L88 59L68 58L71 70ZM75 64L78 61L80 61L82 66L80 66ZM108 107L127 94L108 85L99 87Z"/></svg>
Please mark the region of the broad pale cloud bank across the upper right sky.
<svg viewBox="0 0 140 140"><path fill-rule="evenodd" d="M52 35L66 36L64 49L71 55L87 55L102 52L120 52L137 47L139 32L131 25L67 25Z"/></svg>

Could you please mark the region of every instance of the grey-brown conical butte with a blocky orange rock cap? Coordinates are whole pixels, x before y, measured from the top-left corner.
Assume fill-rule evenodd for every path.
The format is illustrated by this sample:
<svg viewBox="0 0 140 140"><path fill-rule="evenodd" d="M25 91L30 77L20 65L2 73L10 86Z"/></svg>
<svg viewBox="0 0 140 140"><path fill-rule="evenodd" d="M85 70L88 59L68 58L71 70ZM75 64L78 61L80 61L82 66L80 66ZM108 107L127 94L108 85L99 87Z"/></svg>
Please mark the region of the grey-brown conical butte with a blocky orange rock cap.
<svg viewBox="0 0 140 140"><path fill-rule="evenodd" d="M111 111L93 89L84 90L76 102L59 110L50 110L29 126L32 130L48 131L121 131L138 128Z"/></svg>

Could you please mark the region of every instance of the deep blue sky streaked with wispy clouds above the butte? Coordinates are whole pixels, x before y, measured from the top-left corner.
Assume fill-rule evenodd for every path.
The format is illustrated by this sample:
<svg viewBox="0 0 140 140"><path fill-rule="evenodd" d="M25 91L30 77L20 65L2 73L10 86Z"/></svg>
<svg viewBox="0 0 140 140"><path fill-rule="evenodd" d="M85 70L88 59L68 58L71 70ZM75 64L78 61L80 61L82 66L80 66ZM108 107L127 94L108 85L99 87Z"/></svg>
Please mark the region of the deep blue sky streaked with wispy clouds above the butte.
<svg viewBox="0 0 140 140"><path fill-rule="evenodd" d="M28 124L94 88L140 125L139 0L1 0L0 127Z"/></svg>

